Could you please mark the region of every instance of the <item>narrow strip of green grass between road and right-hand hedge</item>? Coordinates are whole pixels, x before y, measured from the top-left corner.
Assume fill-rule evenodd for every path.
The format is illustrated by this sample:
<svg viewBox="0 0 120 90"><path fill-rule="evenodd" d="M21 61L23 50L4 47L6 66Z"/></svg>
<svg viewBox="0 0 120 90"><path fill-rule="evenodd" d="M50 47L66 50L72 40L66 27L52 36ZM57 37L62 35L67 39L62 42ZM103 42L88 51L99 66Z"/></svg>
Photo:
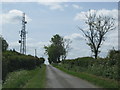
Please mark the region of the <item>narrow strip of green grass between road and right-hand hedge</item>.
<svg viewBox="0 0 120 90"><path fill-rule="evenodd" d="M94 85L101 87L101 88L117 88L118 87L118 82L115 80L105 79L105 78L98 77L98 76L88 74L85 72L74 72L71 70L67 70L61 66L56 66L56 65L53 65L53 66L62 70L65 73L68 73L70 75L89 81L93 83Z"/></svg>

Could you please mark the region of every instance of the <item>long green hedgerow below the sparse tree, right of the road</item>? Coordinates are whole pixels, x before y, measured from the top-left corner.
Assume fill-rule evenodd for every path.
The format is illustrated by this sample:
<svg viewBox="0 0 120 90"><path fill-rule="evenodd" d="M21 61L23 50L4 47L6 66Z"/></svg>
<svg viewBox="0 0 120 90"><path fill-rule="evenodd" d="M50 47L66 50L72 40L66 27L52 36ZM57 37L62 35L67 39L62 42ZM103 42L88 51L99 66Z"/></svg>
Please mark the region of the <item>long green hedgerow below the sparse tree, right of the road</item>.
<svg viewBox="0 0 120 90"><path fill-rule="evenodd" d="M120 52L110 50L106 58L94 59L82 57L62 61L62 67L75 72L87 72L97 76L118 80L120 79Z"/></svg>

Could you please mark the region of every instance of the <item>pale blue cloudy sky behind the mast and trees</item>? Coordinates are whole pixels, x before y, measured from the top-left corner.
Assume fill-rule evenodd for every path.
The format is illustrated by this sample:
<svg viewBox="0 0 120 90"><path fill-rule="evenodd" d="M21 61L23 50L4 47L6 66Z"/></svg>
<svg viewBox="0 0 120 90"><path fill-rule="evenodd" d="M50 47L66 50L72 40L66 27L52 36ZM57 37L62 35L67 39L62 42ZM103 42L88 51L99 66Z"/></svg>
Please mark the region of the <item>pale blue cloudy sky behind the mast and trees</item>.
<svg viewBox="0 0 120 90"><path fill-rule="evenodd" d="M117 2L3 2L2 3L2 36L9 43L9 49L19 51L22 12L26 13L27 54L34 55L37 49L38 56L44 55L44 45L48 45L50 38L59 34L72 41L71 51L67 58L91 56L90 48L82 32L77 26L85 28L84 14L88 10L97 10L106 16L118 19ZM118 47L117 28L107 34L106 41L101 47L102 57L107 55L109 49Z"/></svg>

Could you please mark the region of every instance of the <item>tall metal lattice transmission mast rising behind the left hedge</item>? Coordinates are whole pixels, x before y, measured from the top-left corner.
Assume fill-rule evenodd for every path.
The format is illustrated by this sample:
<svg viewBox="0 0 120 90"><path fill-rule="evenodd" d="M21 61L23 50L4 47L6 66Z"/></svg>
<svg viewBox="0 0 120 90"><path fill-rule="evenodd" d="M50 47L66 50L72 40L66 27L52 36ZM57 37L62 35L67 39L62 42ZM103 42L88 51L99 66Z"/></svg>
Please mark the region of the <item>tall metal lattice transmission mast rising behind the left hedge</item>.
<svg viewBox="0 0 120 90"><path fill-rule="evenodd" d="M25 13L23 13L23 17L22 17L22 30L20 31L20 53L21 54L26 54L26 24L27 21L25 21Z"/></svg>

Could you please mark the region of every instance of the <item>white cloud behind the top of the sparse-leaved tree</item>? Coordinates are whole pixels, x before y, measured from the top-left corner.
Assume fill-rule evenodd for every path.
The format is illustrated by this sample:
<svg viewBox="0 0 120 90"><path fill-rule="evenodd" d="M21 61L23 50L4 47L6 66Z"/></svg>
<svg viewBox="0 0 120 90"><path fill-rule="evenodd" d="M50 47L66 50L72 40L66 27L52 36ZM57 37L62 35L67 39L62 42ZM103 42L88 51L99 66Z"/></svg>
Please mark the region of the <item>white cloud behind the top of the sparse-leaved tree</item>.
<svg viewBox="0 0 120 90"><path fill-rule="evenodd" d="M96 12L96 10L91 10L91 12ZM86 16L89 13L89 11L87 12L80 12L77 13L76 16L74 17L74 20L86 20ZM104 16L110 16L115 18L116 20L118 19L118 10L117 9L113 9L113 10L107 10L107 9L101 9L101 10L97 10L97 15L104 15Z"/></svg>

